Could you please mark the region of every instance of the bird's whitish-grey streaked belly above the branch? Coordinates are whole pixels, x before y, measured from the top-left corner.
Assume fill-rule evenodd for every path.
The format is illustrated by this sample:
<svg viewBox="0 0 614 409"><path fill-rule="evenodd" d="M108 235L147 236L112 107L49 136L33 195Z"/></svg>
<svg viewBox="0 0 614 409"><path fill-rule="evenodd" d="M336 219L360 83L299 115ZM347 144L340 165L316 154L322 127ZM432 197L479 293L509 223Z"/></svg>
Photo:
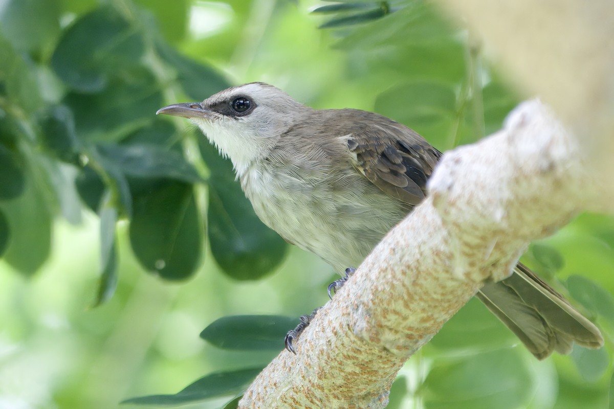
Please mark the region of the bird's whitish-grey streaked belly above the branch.
<svg viewBox="0 0 614 409"><path fill-rule="evenodd" d="M339 273L357 267L408 208L360 175L348 180L297 180L252 172L242 179L258 217L287 241L311 251Z"/></svg>

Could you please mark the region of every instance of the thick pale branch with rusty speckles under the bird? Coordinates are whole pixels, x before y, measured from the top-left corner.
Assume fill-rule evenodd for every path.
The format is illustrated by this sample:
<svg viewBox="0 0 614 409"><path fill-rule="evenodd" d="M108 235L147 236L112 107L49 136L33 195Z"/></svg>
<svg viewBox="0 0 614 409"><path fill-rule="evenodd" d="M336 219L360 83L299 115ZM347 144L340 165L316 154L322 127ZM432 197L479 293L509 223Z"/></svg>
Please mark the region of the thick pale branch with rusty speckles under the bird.
<svg viewBox="0 0 614 409"><path fill-rule="evenodd" d="M403 363L481 283L507 277L530 240L599 197L583 152L531 101L502 131L446 153L426 201L320 310L297 355L279 354L239 407L386 407Z"/></svg>

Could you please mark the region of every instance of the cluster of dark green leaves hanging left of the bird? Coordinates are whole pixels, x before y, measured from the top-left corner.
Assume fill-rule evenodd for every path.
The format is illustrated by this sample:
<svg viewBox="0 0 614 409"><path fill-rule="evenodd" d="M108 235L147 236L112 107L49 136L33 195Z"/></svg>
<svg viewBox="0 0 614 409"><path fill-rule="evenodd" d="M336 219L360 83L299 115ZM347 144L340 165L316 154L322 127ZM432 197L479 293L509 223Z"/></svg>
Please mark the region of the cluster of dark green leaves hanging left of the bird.
<svg viewBox="0 0 614 409"><path fill-rule="evenodd" d="M162 2L158 6L168 8ZM24 28L33 26L32 20L24 18L33 10L42 21L29 32ZM112 219L101 218L106 237L112 237L108 224L126 218L130 220L134 254L144 269L169 280L188 278L200 265L206 235L194 190L208 182L220 185L219 180L228 185L230 168L211 172L210 180L201 177L195 162L202 160L192 158L190 163L182 155L185 140L194 137L179 135L182 129L167 126L168 122L153 113L164 105L165 96L202 97L226 88L228 82L211 67L171 48L161 37L152 12L136 4L103 3L73 16L63 27L61 15L61 4L47 0L11 0L2 13L4 38L0 44L6 58L0 112L3 121L14 127L10 133L3 132L0 145L0 158L4 159L0 197L17 201L26 195L26 185L31 185L31 194L44 191L46 195L39 201L44 209L20 206L20 214L16 214L10 207L4 208L9 220L3 229L6 259L28 275L41 266L49 255L49 245L20 247L19 243L31 242L25 237L31 229L19 226L16 220L48 215L37 221L39 226L49 226L47 231L39 227L41 240L48 239L64 183L74 186L77 178L77 191L88 207L99 214L109 208L117 213ZM176 37L177 32L169 35ZM46 77L39 79L42 73ZM155 138L149 138L150 134ZM41 162L49 164L46 169ZM76 175L72 173L73 180L53 183L49 172L62 174L64 165L77 170ZM34 177L38 177L36 182ZM242 213L251 212L239 189L227 196ZM209 197L219 204L216 195ZM207 208L212 220L220 220L217 213L225 213L219 205ZM79 212L79 205L72 204L71 209ZM29 215L24 213L28 210ZM223 259L222 267L236 278L254 279L270 272L286 249L286 243L271 236L251 213L249 232L214 229L211 237L216 258ZM268 239L255 242L252 236L258 233ZM274 249L274 256L267 258L262 246ZM241 248L241 262L228 257L228 247ZM103 277L117 273L117 262L112 260L116 256L115 251L104 253ZM249 265L254 263L261 267L257 274L249 275ZM104 298L111 296L109 284L113 281L101 281L99 292L106 294Z"/></svg>

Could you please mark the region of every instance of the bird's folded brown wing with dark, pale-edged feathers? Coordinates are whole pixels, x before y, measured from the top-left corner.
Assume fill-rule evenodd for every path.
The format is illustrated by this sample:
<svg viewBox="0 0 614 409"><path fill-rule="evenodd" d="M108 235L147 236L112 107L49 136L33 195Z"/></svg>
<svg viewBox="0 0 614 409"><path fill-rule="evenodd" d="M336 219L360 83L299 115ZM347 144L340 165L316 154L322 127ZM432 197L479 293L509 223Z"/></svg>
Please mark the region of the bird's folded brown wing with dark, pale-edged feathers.
<svg viewBox="0 0 614 409"><path fill-rule="evenodd" d="M373 114L375 115L375 114ZM417 205L441 157L418 132L387 118L363 117L348 136L354 167L392 197Z"/></svg>

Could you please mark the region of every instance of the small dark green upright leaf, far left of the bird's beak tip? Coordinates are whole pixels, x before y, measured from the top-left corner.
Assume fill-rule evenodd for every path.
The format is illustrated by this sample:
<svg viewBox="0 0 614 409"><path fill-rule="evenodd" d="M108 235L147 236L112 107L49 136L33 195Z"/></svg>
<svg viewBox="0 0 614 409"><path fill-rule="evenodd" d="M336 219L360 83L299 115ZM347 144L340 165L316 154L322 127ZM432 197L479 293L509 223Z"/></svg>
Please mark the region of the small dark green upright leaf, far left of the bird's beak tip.
<svg viewBox="0 0 614 409"><path fill-rule="evenodd" d="M77 164L79 141L75 134L74 118L71 110L64 105L45 110L39 120L42 130L42 143L58 159Z"/></svg>

